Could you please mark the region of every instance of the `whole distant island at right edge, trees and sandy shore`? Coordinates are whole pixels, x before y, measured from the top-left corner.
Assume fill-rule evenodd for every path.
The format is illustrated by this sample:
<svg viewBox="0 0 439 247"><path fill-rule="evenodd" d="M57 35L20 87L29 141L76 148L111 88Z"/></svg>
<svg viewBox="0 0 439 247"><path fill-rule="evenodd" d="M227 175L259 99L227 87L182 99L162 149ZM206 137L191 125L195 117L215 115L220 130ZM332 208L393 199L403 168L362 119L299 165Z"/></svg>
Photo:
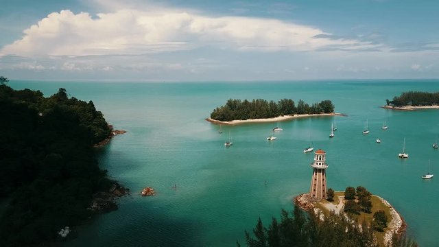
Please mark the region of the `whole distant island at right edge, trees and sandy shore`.
<svg viewBox="0 0 439 247"><path fill-rule="evenodd" d="M385 103L383 108L394 110L439 109L439 92L403 92L401 95L393 97L391 101L385 99Z"/></svg>

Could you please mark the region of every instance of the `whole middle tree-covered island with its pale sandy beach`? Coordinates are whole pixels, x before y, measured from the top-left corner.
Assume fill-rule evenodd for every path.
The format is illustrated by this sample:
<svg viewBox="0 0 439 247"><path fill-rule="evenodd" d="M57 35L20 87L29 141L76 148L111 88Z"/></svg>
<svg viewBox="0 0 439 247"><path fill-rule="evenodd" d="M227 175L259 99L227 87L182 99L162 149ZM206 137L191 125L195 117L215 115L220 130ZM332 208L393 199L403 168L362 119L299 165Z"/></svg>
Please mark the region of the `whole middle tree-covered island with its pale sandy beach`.
<svg viewBox="0 0 439 247"><path fill-rule="evenodd" d="M302 99L297 106L293 99L281 99L278 102L265 99L228 99L224 106L217 107L207 118L213 124L246 124L256 122L286 121L298 117L334 116L335 106L331 100L323 100L311 106Z"/></svg>

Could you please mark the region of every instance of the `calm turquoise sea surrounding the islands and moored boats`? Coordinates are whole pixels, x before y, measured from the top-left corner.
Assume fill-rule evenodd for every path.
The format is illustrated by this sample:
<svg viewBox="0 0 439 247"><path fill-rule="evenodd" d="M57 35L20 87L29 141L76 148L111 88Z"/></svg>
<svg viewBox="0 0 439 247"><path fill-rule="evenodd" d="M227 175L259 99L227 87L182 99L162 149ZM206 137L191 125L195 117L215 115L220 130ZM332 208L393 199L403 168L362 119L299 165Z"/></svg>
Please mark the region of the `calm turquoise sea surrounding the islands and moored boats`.
<svg viewBox="0 0 439 247"><path fill-rule="evenodd" d="M63 87L93 100L110 124L128 131L99 152L99 163L132 194L119 200L119 210L80 226L78 238L65 246L236 246L237 240L245 246L244 230L258 217L269 224L309 190L313 154L302 150L310 135L314 147L327 152L328 187L366 187L401 213L420 246L439 244L439 150L431 147L439 137L439 110L379 107L403 91L439 91L438 80L9 85L46 96ZM204 120L230 98L331 99L347 117L280 122L283 131L270 143L265 139L276 123L223 126L219 134L219 126ZM366 120L370 134L363 135ZM388 130L381 130L385 120ZM332 121L338 129L330 139ZM229 136L234 144L225 148ZM404 138L410 158L401 160ZM423 180L429 161L436 176ZM139 196L145 186L156 196Z"/></svg>

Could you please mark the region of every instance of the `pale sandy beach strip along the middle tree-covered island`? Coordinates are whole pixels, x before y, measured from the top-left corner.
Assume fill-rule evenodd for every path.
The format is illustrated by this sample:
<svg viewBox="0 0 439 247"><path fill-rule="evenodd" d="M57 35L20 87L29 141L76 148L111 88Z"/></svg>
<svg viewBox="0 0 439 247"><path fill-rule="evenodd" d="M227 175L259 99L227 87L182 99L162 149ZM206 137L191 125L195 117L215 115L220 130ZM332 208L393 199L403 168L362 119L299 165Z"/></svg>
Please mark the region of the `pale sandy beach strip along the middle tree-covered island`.
<svg viewBox="0 0 439 247"><path fill-rule="evenodd" d="M302 117L333 117L333 116L344 116L346 115L342 113L322 113L322 114L296 114L296 115L284 115L279 117L272 117L268 119L247 119L247 120L232 120L232 121L219 121L215 119L211 119L211 117L206 118L206 121L211 122L212 124L225 124L229 126L235 126L239 124L254 124L254 123L272 123L276 121L289 121Z"/></svg>

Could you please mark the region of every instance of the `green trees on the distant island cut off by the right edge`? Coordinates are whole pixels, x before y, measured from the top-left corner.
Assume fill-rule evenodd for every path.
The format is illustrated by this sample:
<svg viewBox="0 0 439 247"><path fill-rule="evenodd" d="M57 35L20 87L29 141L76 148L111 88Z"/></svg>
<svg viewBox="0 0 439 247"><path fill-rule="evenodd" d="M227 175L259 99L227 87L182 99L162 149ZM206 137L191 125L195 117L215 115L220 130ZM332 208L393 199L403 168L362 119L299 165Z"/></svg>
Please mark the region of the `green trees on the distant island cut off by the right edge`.
<svg viewBox="0 0 439 247"><path fill-rule="evenodd" d="M388 106L434 106L439 105L439 92L428 93L419 91L403 92L393 100L385 99Z"/></svg>

